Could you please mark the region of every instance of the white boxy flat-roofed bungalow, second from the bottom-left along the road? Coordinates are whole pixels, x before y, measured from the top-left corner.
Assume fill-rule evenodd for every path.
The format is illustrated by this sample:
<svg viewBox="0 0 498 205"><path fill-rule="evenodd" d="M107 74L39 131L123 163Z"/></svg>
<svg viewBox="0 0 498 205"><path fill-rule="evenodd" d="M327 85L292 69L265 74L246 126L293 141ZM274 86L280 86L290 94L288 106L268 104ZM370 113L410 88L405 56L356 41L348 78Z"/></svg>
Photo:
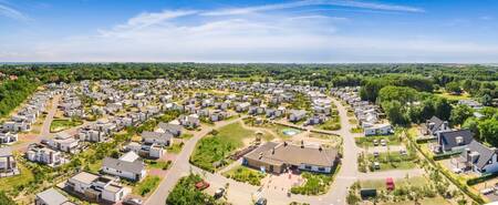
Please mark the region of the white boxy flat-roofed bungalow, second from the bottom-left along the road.
<svg viewBox="0 0 498 205"><path fill-rule="evenodd" d="M64 189L83 195L85 198L97 203L116 203L126 197L131 192L129 188L121 186L116 178L87 172L81 172L69 178Z"/></svg>

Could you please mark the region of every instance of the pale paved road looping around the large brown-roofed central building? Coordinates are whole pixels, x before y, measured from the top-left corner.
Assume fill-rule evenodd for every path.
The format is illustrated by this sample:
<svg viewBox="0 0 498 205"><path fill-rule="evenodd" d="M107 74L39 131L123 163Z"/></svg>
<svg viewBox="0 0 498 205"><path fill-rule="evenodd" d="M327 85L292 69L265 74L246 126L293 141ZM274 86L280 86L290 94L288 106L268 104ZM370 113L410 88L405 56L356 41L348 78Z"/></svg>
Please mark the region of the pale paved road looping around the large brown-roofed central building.
<svg viewBox="0 0 498 205"><path fill-rule="evenodd" d="M329 193L321 196L304 196L304 195L287 195L287 191L274 189L268 186L257 187L246 183L236 182L230 178L226 178L218 173L211 174L203 171L188 163L188 158L194 151L195 144L204 135L206 135L209 130L203 130L201 132L195 134L195 136L188 141L177 157L177 160L172 165L168 171L166 178L160 183L156 192L146 201L147 205L160 205L165 204L168 193L173 189L177 181L190 172L204 175L207 182L211 184L210 189L218 187L225 187L229 184L227 189L228 202L232 204L247 205L253 203L258 197L262 196L268 198L268 204L270 205L288 205L291 202L308 203L313 205L346 205L345 196L347 195L347 188L359 178L372 178L380 180L387 176L402 178L406 174L409 176L423 174L422 170L411 170L411 171L390 171L390 172L378 172L378 173L359 173L357 172L357 154L360 148L354 142L355 136L361 136L362 134L352 134L350 129L352 125L349 122L346 109L336 100L333 100L339 110L339 115L341 117L341 130L330 132L331 134L338 134L343 137L343 158L341 170L339 171L334 183L332 184ZM240 119L237 119L240 120ZM222 125L232 123L234 121L225 122L222 124L217 124L215 127L220 127ZM310 129L307 129L310 130ZM315 131L315 130L313 130Z"/></svg>

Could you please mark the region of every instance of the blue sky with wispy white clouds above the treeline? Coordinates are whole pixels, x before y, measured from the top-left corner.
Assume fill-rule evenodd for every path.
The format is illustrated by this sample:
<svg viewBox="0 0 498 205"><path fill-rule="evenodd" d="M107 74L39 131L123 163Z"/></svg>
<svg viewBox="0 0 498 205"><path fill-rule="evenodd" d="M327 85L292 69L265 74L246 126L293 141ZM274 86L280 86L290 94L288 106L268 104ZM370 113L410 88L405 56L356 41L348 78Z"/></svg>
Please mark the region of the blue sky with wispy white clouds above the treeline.
<svg viewBox="0 0 498 205"><path fill-rule="evenodd" d="M1 62L498 61L495 0L0 0Z"/></svg>

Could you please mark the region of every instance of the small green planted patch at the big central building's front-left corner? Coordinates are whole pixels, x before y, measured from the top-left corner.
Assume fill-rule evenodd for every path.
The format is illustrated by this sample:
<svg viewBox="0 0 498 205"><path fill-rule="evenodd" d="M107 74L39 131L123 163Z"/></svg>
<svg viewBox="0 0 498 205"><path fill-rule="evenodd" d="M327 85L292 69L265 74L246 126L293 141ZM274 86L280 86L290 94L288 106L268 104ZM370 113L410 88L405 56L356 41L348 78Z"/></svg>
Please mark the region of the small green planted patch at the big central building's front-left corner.
<svg viewBox="0 0 498 205"><path fill-rule="evenodd" d="M261 185L261 180L264 177L263 173L241 165L222 173L222 175L237 182L249 183L255 186Z"/></svg>

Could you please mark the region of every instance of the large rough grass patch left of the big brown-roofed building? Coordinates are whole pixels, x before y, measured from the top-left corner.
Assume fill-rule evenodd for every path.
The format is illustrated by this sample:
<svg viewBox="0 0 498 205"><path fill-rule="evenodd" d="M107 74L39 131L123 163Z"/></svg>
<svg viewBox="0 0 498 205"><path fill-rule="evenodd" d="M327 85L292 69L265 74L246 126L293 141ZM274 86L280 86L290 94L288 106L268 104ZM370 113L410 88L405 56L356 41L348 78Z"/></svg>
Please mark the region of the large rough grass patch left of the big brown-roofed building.
<svg viewBox="0 0 498 205"><path fill-rule="evenodd" d="M206 171L214 172L214 163L220 166L228 164L228 157L237 148L243 147L243 140L256 137L255 132L246 130L240 123L232 123L221 127L216 135L203 137L196 144L190 162Z"/></svg>

